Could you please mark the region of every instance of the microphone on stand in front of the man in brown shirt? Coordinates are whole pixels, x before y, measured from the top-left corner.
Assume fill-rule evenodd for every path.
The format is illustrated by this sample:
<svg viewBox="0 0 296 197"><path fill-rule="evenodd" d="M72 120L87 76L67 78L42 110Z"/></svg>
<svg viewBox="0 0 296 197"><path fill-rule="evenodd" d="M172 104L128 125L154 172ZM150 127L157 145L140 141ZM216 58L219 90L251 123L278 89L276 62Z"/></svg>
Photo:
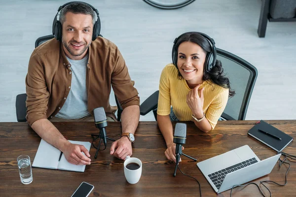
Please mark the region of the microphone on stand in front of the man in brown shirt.
<svg viewBox="0 0 296 197"><path fill-rule="evenodd" d="M107 134L106 134L105 127L107 127L108 124L107 124L107 118L106 118L104 107L98 107L94 109L94 119L95 119L96 128L100 130L100 136L102 137L104 145L106 147Z"/></svg>

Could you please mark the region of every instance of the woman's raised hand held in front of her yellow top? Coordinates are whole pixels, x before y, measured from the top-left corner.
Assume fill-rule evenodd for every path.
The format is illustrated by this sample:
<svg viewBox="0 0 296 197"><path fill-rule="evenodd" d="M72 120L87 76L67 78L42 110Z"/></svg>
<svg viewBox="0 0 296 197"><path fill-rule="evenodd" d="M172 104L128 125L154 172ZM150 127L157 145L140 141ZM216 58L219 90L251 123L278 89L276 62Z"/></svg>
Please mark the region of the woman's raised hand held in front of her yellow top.
<svg viewBox="0 0 296 197"><path fill-rule="evenodd" d="M202 88L201 90L198 90L199 87L200 87L200 84L197 85L195 88L193 88L188 93L187 98L186 98L187 105L191 109L192 114L198 119L202 118L204 115L204 112L203 112L203 103L204 103L203 91L204 91L204 88Z"/></svg>

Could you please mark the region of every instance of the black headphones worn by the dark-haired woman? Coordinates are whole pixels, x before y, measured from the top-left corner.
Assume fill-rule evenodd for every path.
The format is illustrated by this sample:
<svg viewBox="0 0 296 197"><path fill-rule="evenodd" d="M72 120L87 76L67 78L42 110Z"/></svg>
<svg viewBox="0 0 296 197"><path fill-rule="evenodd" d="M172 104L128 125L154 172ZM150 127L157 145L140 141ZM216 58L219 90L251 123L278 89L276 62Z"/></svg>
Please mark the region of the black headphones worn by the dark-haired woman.
<svg viewBox="0 0 296 197"><path fill-rule="evenodd" d="M186 32L186 33L198 33L201 34L202 36L204 36L212 45L212 51L210 53L207 54L206 56L206 60L205 60L205 64L204 64L204 68L206 69L207 72L209 72L215 65L216 65L216 58L217 58L217 51L216 51L216 46L215 46L215 41L213 38L211 38L210 36L208 36L205 33L200 33L200 32ZM178 61L178 49L176 47L176 43L178 41L178 39L184 35L185 33L181 34L179 37L177 37L174 41L174 45L173 45L173 50L172 50L172 59L173 59L173 64L177 67L177 61Z"/></svg>

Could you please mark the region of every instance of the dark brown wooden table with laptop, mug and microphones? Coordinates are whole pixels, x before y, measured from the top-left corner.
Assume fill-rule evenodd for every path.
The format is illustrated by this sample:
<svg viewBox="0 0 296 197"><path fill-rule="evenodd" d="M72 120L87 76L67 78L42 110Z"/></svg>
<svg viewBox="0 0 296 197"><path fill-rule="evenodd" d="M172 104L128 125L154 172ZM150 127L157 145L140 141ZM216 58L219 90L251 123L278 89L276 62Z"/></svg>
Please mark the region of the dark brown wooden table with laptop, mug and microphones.
<svg viewBox="0 0 296 197"><path fill-rule="evenodd" d="M296 121L267 121L274 127L296 137ZM214 131L204 133L199 131L192 122L187 123L187 139L184 153L197 159L198 162L222 154L226 151L248 144L260 160L276 154L271 148L262 144L247 131L256 121L219 121ZM92 141L91 133L98 133L94 123L54 123L59 131L71 140ZM173 123L175 128L175 123ZM120 123L109 123L107 127L109 137L118 139L121 133ZM94 159L96 149L91 147L91 165L87 165L85 172L70 172L32 168L33 182L23 185L20 181L16 159L19 155L29 155L31 163L34 160L40 137L27 123L0 123L0 197L70 197L82 181L95 186L90 197L199 197L198 184L177 171L173 177L175 164L169 162L164 151L165 141L156 122L140 122L136 131L136 142L133 144L133 157L143 163L140 181L131 185L126 182L123 172L123 161L109 154L111 141L105 151L100 151ZM296 144L292 142L284 149L286 153L296 155ZM291 163L288 173L288 185L285 187L266 184L272 196L292 197L296 195L296 164ZM202 175L196 162L182 156L180 168L200 182L203 197L229 197L230 191L217 195ZM287 165L278 164L269 175L262 180L273 180L283 184ZM261 185L260 188L263 188ZM264 190L265 196L269 196ZM235 188L234 197L260 196L255 185L246 188Z"/></svg>

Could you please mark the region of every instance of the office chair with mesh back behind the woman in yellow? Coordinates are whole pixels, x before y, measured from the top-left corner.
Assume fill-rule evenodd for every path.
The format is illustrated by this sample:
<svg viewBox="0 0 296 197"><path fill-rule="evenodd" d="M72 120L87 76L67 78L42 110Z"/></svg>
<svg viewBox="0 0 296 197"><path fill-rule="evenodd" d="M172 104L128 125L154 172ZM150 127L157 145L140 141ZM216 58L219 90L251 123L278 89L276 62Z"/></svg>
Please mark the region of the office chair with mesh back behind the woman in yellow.
<svg viewBox="0 0 296 197"><path fill-rule="evenodd" d="M221 118L223 120L245 120L258 71L247 61L219 48L217 48L217 60L221 61L226 76L230 80L231 88L235 91L234 97L228 99ZM157 120L158 94L159 91L154 92L140 105L141 115L145 116L152 110Z"/></svg>

